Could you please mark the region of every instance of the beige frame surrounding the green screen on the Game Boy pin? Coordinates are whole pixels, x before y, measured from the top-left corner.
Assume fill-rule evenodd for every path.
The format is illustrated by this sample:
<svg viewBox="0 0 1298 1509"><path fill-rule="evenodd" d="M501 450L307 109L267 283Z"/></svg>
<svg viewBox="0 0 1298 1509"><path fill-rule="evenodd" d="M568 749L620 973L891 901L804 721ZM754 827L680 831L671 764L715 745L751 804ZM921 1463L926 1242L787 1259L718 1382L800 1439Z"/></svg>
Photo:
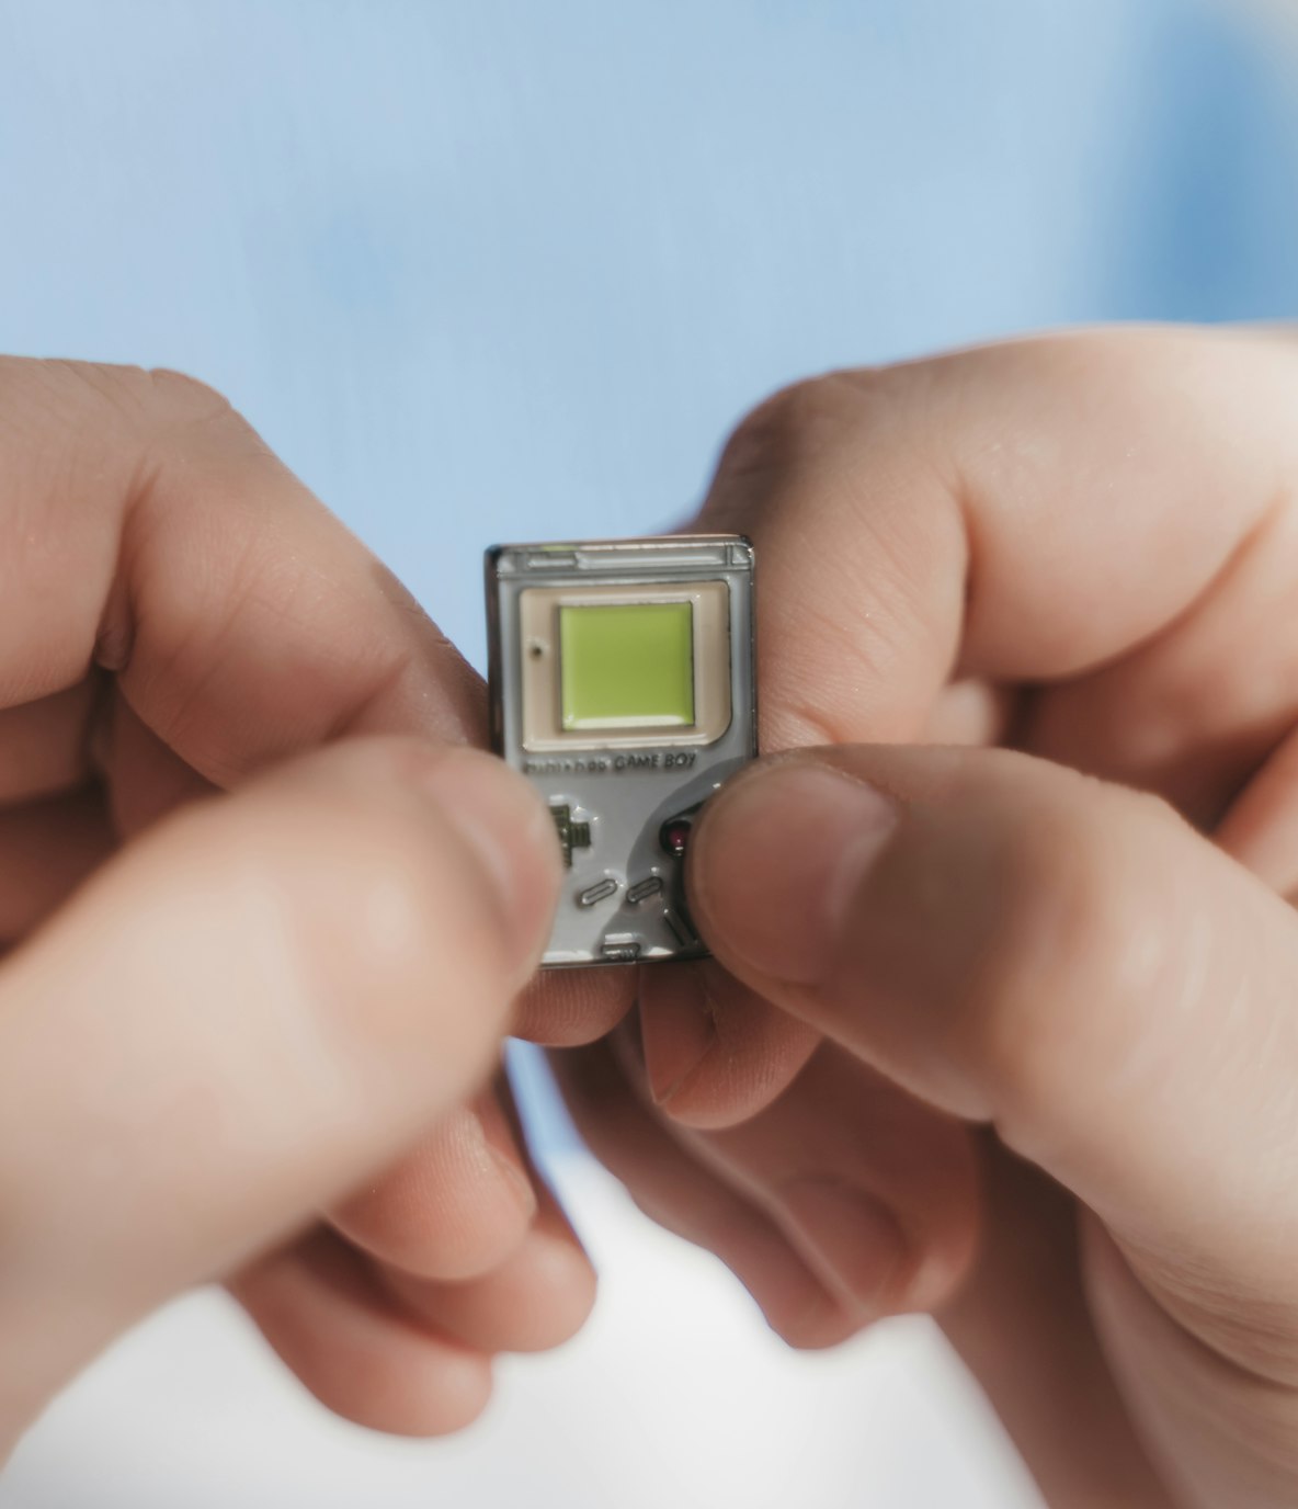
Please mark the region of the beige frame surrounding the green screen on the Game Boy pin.
<svg viewBox="0 0 1298 1509"><path fill-rule="evenodd" d="M560 711L558 610L654 602L693 605L694 721L641 729L564 729ZM724 581L525 587L518 595L522 747L528 753L715 744L731 726L731 587Z"/></svg>

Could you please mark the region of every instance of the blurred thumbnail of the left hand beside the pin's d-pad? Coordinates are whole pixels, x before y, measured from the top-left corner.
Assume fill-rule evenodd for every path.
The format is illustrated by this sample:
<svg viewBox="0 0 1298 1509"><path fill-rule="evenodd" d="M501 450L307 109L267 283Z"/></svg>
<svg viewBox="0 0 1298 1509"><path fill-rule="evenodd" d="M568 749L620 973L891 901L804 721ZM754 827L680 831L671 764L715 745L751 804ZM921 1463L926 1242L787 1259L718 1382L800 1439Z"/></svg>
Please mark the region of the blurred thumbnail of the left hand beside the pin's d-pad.
<svg viewBox="0 0 1298 1509"><path fill-rule="evenodd" d="M522 777L489 754L447 750L412 771L491 883L519 958L548 930L558 869L554 824Z"/></svg>

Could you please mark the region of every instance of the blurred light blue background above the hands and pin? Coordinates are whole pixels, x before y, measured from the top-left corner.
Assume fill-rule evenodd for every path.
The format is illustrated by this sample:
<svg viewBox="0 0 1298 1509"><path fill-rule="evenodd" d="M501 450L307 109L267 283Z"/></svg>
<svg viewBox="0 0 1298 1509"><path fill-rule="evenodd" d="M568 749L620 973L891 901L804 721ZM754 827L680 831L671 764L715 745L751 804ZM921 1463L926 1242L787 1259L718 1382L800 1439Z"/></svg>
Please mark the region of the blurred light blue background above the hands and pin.
<svg viewBox="0 0 1298 1509"><path fill-rule="evenodd" d="M481 661L826 367L1298 311L1293 51L1192 0L0 0L0 349L222 388Z"/></svg>

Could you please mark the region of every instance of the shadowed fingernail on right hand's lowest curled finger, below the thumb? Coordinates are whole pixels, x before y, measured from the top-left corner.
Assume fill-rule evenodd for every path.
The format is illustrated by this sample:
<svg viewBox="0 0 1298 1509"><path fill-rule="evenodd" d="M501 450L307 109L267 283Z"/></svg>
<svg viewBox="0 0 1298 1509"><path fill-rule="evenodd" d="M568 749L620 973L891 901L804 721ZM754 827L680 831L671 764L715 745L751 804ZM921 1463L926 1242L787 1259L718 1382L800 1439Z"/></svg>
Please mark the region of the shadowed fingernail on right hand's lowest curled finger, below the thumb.
<svg viewBox="0 0 1298 1509"><path fill-rule="evenodd" d="M829 1179L794 1180L780 1195L839 1287L865 1310L890 1308L907 1260L892 1212L872 1195Z"/></svg>

